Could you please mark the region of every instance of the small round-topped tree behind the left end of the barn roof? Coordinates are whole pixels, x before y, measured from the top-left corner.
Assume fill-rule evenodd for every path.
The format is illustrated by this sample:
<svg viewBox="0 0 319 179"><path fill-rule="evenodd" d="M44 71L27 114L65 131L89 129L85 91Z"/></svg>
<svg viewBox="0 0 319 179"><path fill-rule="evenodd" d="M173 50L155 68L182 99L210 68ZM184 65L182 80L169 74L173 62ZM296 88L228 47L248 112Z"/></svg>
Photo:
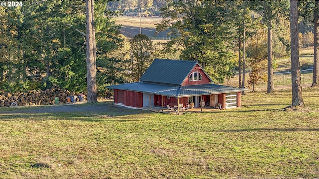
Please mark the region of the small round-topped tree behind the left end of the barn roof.
<svg viewBox="0 0 319 179"><path fill-rule="evenodd" d="M138 34L131 41L131 64L132 64L132 81L140 80L145 70L153 60L153 41L146 35Z"/></svg>

